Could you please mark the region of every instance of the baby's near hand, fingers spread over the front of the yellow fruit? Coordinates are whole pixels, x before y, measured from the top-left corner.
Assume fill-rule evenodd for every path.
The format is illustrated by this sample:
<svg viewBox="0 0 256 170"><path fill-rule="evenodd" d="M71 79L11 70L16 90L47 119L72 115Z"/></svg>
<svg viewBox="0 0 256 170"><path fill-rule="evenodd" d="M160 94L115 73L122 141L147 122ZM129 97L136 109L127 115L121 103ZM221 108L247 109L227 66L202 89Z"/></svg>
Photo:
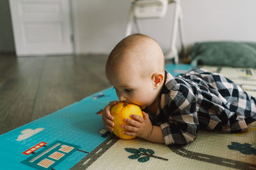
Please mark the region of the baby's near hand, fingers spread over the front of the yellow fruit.
<svg viewBox="0 0 256 170"><path fill-rule="evenodd" d="M148 118L147 113L143 111L142 114L144 118L138 115L131 115L133 120L125 118L125 122L129 123L130 125L122 125L124 129L127 129L127 131L123 132L124 134L129 136L138 136L144 139L148 139L150 137L153 128L152 123Z"/></svg>

